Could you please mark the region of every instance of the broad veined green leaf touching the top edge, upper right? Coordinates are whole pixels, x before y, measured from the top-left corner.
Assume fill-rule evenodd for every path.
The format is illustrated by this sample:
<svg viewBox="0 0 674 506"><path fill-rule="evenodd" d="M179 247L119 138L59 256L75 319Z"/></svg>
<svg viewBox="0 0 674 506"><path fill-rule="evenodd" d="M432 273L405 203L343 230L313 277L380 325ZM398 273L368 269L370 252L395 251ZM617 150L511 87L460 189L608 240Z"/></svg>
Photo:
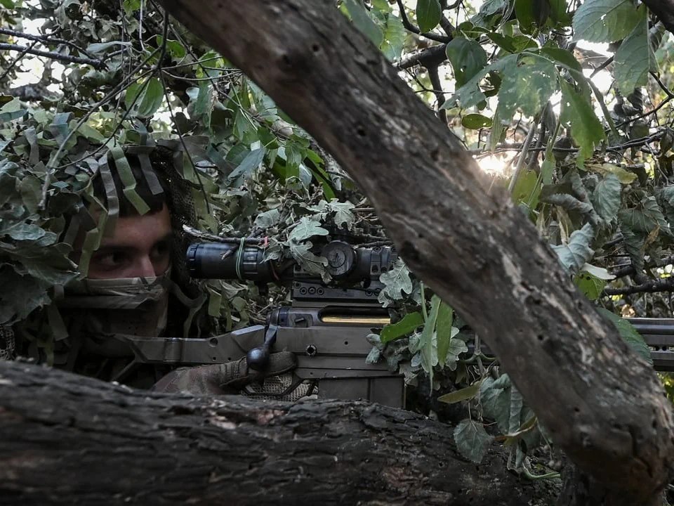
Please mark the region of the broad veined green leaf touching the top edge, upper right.
<svg viewBox="0 0 674 506"><path fill-rule="evenodd" d="M633 0L586 0L574 14L574 38L614 42L627 37L641 19Z"/></svg>

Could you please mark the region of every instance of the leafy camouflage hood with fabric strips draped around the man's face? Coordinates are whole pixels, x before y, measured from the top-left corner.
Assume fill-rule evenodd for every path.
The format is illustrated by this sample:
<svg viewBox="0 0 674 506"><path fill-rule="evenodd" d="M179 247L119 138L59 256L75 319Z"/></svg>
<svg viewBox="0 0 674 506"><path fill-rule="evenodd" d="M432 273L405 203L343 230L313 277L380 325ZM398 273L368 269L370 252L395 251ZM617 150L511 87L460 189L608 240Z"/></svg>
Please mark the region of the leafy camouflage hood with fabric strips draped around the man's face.
<svg viewBox="0 0 674 506"><path fill-rule="evenodd" d="M29 126L15 139L16 155L0 157L0 278L6 287L0 294L0 359L27 353L66 365L72 360L75 327L98 335L158 335L167 325L176 335L208 330L206 294L185 271L183 231L183 226L208 221L206 192L193 165L208 160L207 138L154 143L142 125L131 134L133 143L110 149L97 149L79 137L73 148L81 145L80 153L70 157L76 161L48 169L38 142L47 135ZM120 208L130 204L141 215L149 210L136 191L141 182L169 207L170 272L154 279L86 279L91 254L114 230ZM81 248L77 265L70 259L76 242ZM139 312L143 304L146 311ZM122 325L109 325L111 309L128 313L112 319ZM96 313L97 318L83 316ZM167 322L167 313L178 318ZM98 351L120 353L114 346Z"/></svg>

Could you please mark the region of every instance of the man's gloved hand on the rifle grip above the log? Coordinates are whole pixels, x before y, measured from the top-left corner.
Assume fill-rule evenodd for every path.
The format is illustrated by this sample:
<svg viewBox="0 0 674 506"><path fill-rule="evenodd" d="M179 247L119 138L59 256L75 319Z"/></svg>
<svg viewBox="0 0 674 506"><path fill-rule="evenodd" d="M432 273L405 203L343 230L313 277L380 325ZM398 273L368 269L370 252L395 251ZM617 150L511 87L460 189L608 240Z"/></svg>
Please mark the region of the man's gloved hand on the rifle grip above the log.
<svg viewBox="0 0 674 506"><path fill-rule="evenodd" d="M269 367L263 372L249 369L244 357L236 362L176 369L155 383L152 390L194 395L238 394L248 384L262 382L265 377L281 375L296 367L297 358L293 353L279 351L270 354Z"/></svg>

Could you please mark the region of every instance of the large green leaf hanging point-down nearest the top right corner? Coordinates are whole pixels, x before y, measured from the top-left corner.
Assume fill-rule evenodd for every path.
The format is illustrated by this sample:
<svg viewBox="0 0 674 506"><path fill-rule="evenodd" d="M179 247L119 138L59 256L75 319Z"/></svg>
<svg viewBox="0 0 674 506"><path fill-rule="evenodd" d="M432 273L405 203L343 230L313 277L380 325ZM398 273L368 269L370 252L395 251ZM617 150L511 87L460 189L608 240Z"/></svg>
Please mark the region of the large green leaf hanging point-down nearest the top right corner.
<svg viewBox="0 0 674 506"><path fill-rule="evenodd" d="M648 72L657 72L658 63L648 36L648 18L644 6L640 9L640 22L622 41L614 58L614 76L618 89L628 96L637 86L645 86Z"/></svg>

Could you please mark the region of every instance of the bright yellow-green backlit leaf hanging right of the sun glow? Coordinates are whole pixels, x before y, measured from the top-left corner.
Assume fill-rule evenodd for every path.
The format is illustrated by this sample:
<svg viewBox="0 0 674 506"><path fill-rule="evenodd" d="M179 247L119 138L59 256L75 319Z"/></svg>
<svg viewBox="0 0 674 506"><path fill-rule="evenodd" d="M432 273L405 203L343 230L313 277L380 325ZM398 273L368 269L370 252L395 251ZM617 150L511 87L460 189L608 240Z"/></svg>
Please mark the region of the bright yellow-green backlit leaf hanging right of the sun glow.
<svg viewBox="0 0 674 506"><path fill-rule="evenodd" d="M595 145L604 140L604 128L595 115L588 98L562 80L562 115L560 121L571 129L571 137L579 145L576 163L583 167L591 157Z"/></svg>

